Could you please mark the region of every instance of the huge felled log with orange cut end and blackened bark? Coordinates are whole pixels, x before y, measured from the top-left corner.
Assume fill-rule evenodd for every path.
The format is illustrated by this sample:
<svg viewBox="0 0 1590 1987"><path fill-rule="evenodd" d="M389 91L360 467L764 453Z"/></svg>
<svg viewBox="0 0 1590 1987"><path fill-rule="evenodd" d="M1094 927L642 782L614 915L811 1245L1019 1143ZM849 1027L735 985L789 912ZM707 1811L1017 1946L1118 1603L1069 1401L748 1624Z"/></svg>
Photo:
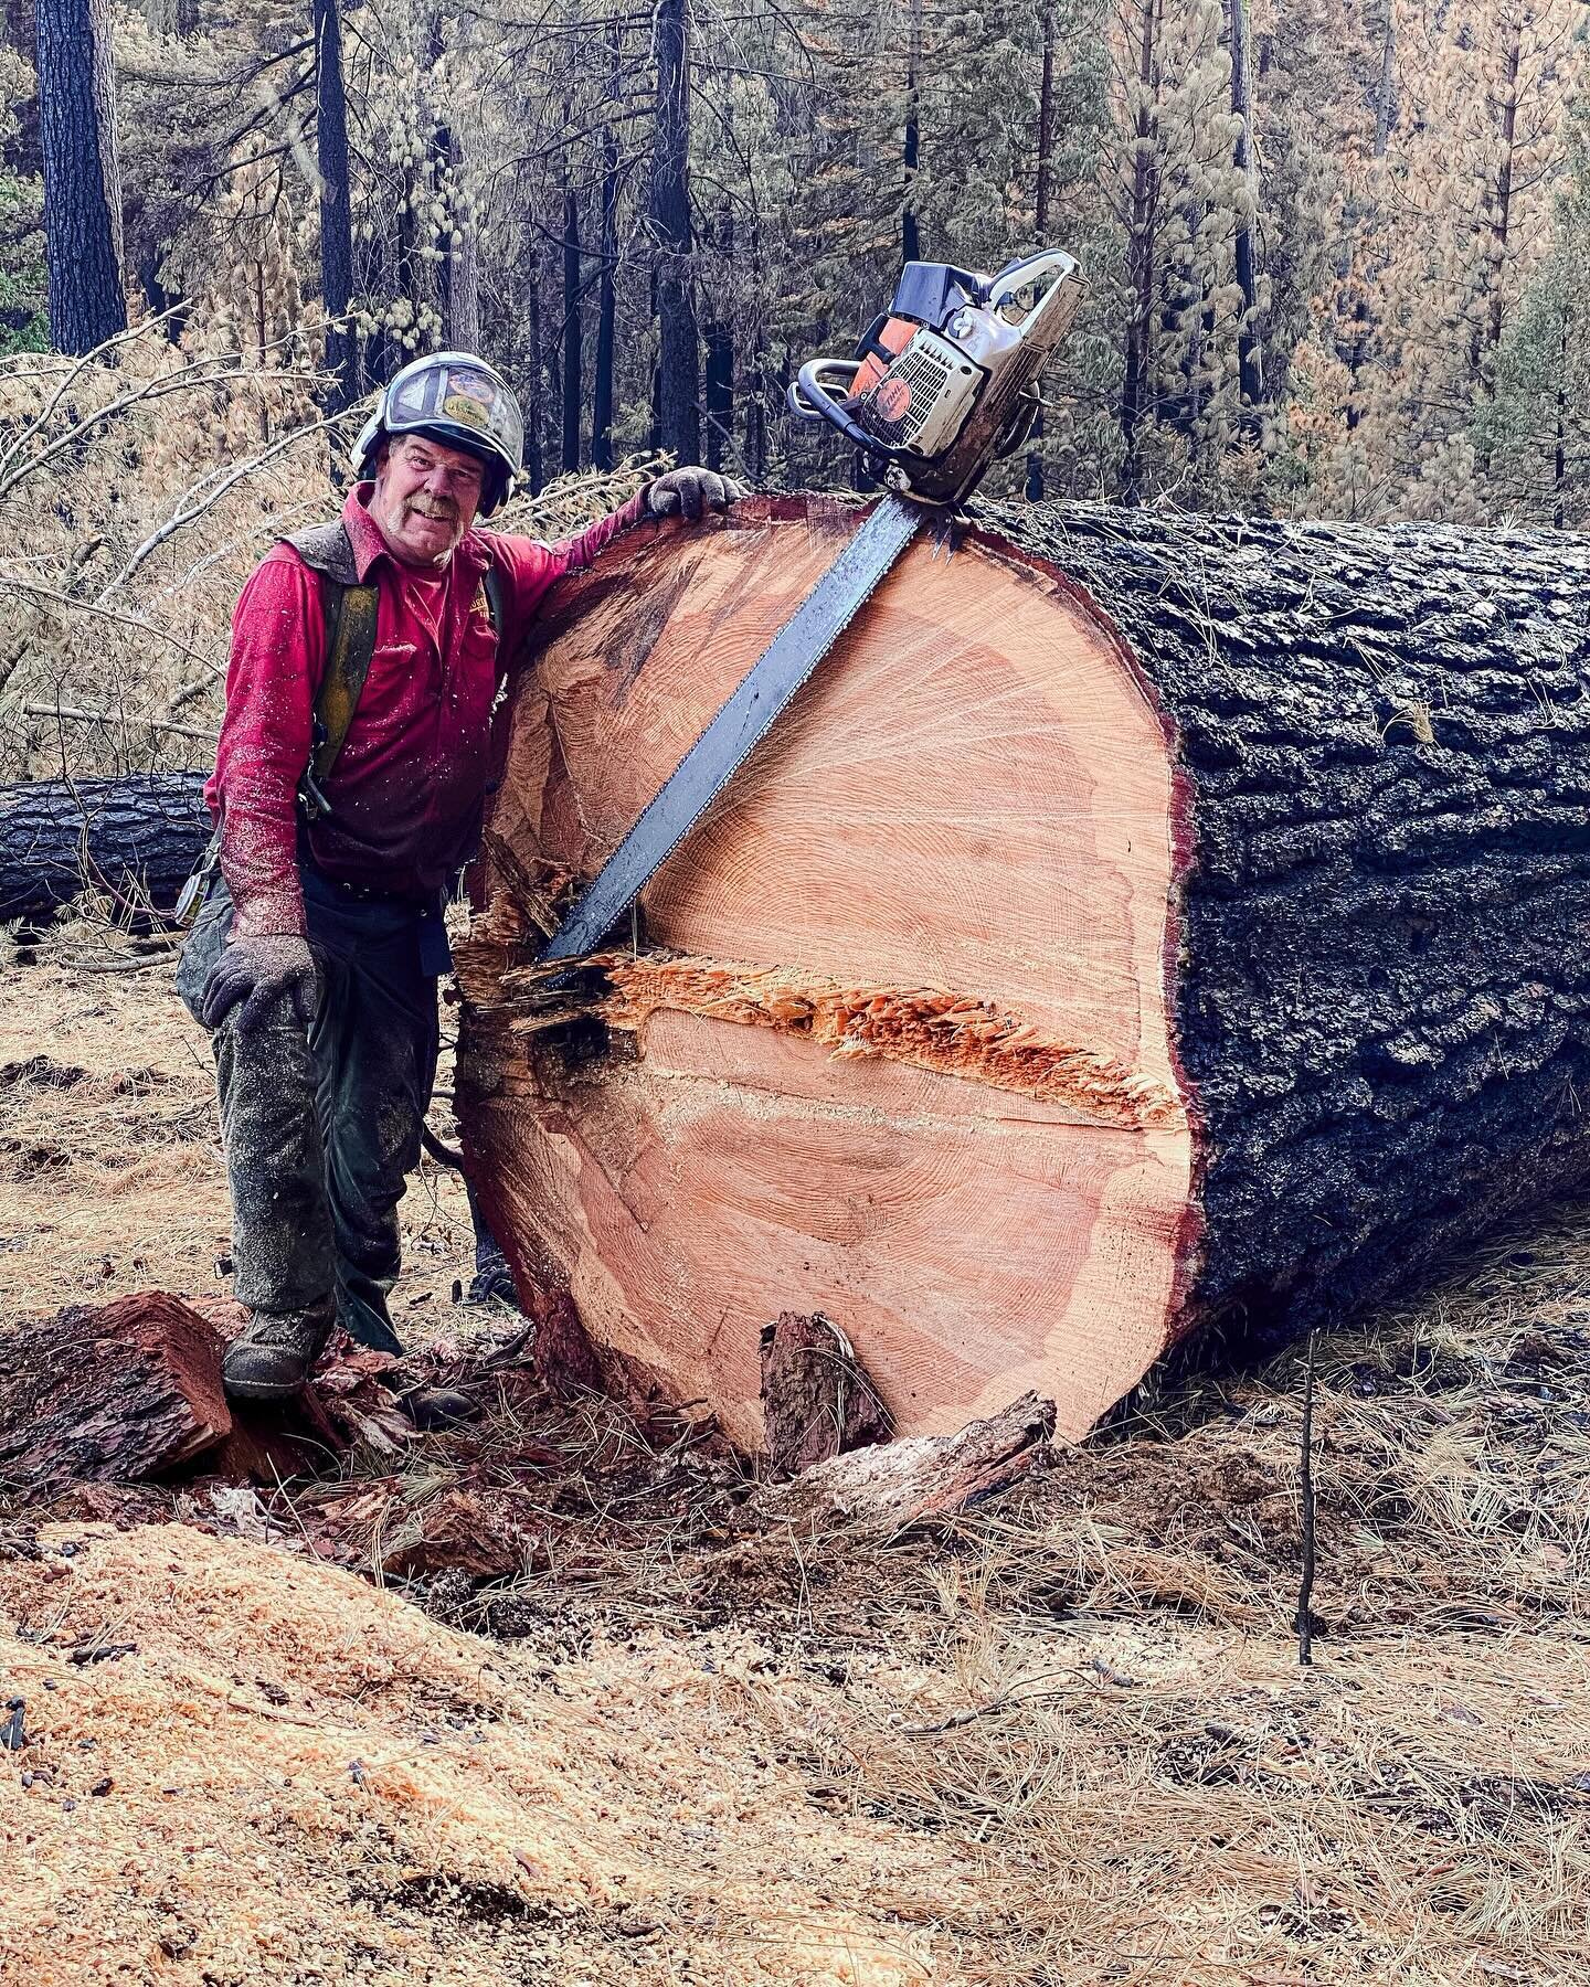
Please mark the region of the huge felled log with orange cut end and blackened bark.
<svg viewBox="0 0 1590 1987"><path fill-rule="evenodd" d="M984 507L920 540L644 894L531 970L853 513L642 529L558 594L461 954L521 1288L759 1447L821 1309L902 1433L1081 1435L1590 1172L1590 546Z"/></svg>

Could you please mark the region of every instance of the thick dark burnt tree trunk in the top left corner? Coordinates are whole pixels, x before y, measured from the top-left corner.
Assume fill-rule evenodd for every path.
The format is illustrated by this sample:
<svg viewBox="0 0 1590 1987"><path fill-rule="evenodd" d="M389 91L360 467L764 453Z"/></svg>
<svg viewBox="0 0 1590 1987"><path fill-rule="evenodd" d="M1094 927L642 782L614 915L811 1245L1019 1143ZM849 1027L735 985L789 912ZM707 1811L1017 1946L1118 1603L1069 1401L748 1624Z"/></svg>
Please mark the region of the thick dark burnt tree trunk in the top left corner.
<svg viewBox="0 0 1590 1987"><path fill-rule="evenodd" d="M109 8L38 0L36 22L50 340L93 352L127 330Z"/></svg>

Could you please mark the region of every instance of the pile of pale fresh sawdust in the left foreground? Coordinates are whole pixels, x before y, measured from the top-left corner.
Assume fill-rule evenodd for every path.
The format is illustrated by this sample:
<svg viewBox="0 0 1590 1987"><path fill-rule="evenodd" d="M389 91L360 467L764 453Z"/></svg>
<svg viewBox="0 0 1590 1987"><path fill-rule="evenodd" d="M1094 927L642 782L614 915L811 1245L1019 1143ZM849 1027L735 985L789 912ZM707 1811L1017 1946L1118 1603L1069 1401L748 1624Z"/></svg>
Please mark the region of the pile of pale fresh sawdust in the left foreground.
<svg viewBox="0 0 1590 1987"><path fill-rule="evenodd" d="M936 1977L898 1828L801 1796L702 1653L560 1687L364 1582L181 1526L0 1568L0 1977ZM731 1663L727 1665L733 1667ZM948 1864L932 1856L934 1864Z"/></svg>

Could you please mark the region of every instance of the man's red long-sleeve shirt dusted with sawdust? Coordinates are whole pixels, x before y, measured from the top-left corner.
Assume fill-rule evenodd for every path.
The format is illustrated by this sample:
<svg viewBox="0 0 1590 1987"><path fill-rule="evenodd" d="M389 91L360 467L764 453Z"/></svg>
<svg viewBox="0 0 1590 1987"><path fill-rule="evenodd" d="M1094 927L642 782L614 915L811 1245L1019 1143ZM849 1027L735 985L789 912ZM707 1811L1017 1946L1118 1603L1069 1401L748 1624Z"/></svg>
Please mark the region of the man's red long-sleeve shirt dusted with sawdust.
<svg viewBox="0 0 1590 1987"><path fill-rule="evenodd" d="M324 783L330 815L308 829L308 848L340 882L423 898L475 852L505 662L547 590L638 523L646 493L558 544L469 531L447 566L425 574L386 548L370 489L350 493L342 523L360 582L380 588L376 652ZM481 586L487 566L501 574L501 644ZM227 715L205 787L238 936L304 930L296 793L324 668L320 582L276 544L233 616Z"/></svg>

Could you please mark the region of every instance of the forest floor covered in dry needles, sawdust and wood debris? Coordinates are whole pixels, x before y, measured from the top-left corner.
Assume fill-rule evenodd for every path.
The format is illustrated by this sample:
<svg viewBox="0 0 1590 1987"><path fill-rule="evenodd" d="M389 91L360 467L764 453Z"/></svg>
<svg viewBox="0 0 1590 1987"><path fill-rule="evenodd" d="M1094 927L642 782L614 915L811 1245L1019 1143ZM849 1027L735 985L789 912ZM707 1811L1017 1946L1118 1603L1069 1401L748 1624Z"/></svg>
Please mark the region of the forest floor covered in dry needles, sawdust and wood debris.
<svg viewBox="0 0 1590 1987"><path fill-rule="evenodd" d="M0 1071L0 1329L225 1290L203 1041L163 982L8 974ZM405 1216L403 1329L445 1373L511 1319L447 1299L451 1180ZM558 1401L511 1343L481 1421L302 1494L12 1518L0 1975L1566 1987L1588 1222L1320 1341L1310 1671L1298 1353L1167 1381L865 1550L735 1536L702 1429Z"/></svg>

